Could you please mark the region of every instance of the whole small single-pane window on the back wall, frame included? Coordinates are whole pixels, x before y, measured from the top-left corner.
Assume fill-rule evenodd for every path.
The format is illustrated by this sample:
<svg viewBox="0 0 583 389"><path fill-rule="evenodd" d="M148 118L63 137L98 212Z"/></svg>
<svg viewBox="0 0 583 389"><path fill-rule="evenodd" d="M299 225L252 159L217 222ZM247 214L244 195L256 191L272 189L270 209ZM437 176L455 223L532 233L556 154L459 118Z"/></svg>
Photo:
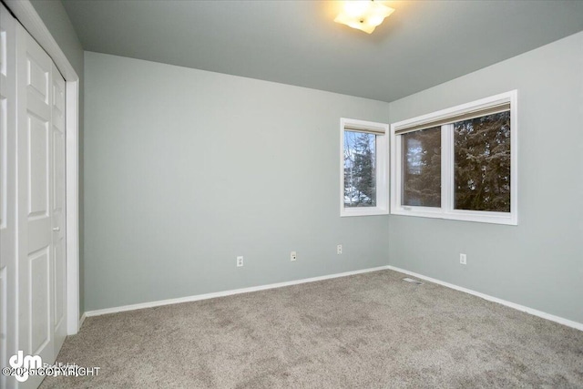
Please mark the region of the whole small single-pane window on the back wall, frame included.
<svg viewBox="0 0 583 389"><path fill-rule="evenodd" d="M340 120L340 216L388 213L388 125Z"/></svg>

